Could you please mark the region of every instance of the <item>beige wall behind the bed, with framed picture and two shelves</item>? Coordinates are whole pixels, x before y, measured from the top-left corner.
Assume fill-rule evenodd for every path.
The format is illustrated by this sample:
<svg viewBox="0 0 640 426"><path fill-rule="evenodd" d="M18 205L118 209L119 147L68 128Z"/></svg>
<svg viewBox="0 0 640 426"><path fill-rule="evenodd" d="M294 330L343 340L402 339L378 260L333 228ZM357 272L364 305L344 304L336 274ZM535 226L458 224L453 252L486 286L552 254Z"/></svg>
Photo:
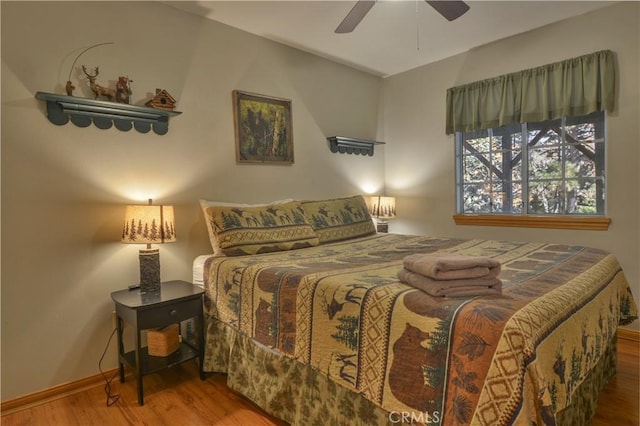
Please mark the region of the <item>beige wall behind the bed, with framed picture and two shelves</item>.
<svg viewBox="0 0 640 426"><path fill-rule="evenodd" d="M89 4L90 3L90 4ZM382 80L156 2L2 2L2 400L97 374L110 293L138 280L137 247L119 243L124 205L176 206L178 241L162 278L191 280L210 252L197 200L321 198L381 188L374 157L332 154L326 136L375 138ZM55 126L37 91L64 93L71 64L98 83L155 88L182 115L167 135ZM77 96L89 96L78 76ZM83 80L85 82L86 80ZM231 91L292 100L295 163L238 165ZM104 368L113 368L115 346Z"/></svg>

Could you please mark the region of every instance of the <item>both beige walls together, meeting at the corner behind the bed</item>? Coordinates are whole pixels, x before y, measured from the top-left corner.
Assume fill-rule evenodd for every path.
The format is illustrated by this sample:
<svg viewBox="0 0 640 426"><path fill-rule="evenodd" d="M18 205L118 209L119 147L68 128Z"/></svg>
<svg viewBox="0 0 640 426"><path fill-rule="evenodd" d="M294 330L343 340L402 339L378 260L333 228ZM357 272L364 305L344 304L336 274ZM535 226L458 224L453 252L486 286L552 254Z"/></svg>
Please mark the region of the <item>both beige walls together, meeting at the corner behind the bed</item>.
<svg viewBox="0 0 640 426"><path fill-rule="evenodd" d="M400 196L392 232L548 240L609 249L638 297L640 150L638 4L625 3L381 80L151 2L8 3L2 7L2 394L7 400L97 373L111 331L110 292L138 279L137 248L118 242L124 204L176 205L178 242L163 279L191 279L209 251L197 200L267 201L376 190ZM99 82L133 80L133 100L169 91L183 114L165 136L55 126L37 91L63 93L71 63ZM456 227L448 87L612 49L618 110L608 121L607 232ZM76 95L80 90L72 77ZM293 102L295 164L235 162L231 91ZM381 111L381 119L378 119ZM325 137L386 140L375 157L331 154ZM637 236L638 238L634 238ZM116 365L109 348L104 368ZM9 367L7 367L9 366Z"/></svg>

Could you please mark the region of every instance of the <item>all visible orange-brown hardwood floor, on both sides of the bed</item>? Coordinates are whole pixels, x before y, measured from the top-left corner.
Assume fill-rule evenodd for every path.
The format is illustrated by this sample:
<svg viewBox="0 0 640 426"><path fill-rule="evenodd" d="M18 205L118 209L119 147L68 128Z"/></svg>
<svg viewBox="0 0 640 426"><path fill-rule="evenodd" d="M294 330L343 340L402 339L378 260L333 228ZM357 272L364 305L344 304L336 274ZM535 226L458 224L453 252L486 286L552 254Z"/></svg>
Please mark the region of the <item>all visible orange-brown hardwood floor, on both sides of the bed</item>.
<svg viewBox="0 0 640 426"><path fill-rule="evenodd" d="M638 426L640 411L640 342L620 339L618 374L600 392L591 426ZM135 382L113 381L119 401L106 406L102 387L2 415L2 425L285 425L229 390L225 376L202 382L194 363L144 378L145 405L137 405ZM573 426L573 425L572 425ZM576 425L580 426L580 425Z"/></svg>

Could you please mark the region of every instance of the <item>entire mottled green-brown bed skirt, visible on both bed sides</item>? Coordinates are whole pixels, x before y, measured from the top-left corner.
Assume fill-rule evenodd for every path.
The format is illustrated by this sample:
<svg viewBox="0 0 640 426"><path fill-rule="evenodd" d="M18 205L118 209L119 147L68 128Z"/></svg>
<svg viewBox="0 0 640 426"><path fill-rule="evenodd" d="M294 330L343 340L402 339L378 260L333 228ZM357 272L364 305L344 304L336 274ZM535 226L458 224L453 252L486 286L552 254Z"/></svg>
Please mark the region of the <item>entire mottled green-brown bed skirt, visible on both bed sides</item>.
<svg viewBox="0 0 640 426"><path fill-rule="evenodd" d="M267 413L294 425L394 425L403 413L388 413L362 396L329 380L308 365L273 351L207 318L204 371L227 374L230 389ZM598 391L615 375L616 337L603 348L591 374L575 390L571 405L548 425L588 424L595 415ZM438 418L414 419L437 425ZM543 416L544 417L544 416Z"/></svg>

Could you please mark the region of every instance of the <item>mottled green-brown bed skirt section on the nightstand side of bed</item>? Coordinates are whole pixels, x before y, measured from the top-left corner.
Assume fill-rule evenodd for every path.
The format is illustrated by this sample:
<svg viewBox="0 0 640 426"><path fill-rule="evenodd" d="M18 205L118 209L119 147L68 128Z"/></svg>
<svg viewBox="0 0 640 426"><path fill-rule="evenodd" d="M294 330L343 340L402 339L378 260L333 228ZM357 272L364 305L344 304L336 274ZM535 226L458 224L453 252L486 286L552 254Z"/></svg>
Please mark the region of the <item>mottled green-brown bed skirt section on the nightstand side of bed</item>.
<svg viewBox="0 0 640 426"><path fill-rule="evenodd" d="M226 373L230 389L291 424L393 424L360 395L211 318L204 370Z"/></svg>

